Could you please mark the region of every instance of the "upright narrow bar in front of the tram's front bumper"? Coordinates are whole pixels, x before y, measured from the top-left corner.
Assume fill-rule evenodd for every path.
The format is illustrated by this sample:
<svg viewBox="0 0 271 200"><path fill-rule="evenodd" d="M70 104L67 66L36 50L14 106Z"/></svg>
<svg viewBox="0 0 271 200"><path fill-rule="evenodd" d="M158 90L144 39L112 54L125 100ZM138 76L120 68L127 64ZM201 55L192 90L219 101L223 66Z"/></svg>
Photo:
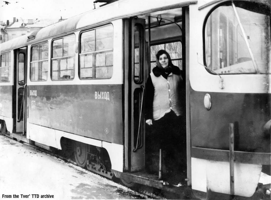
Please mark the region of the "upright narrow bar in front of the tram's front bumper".
<svg viewBox="0 0 271 200"><path fill-rule="evenodd" d="M229 162L230 162L230 194L234 195L234 125L230 123L230 152L229 152Z"/></svg>

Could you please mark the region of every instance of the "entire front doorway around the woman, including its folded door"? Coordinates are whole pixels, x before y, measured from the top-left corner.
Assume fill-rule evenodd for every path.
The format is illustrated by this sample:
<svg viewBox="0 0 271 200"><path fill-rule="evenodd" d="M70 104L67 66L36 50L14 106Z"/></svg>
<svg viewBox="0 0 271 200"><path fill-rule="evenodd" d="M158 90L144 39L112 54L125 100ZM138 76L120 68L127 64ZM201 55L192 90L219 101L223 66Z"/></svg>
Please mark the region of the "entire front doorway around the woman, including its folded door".
<svg viewBox="0 0 271 200"><path fill-rule="evenodd" d="M186 145L185 13L186 8L174 8L124 19L126 80L124 87L128 88L125 93L125 110L128 110L125 113L125 123L129 125L125 129L127 148L125 148L124 170L126 172L122 177L132 182L145 184L138 177L142 177L144 180L148 177L148 184L151 180L156 181L153 182L154 186L158 182L160 184L160 181L174 185L178 185L178 183L189 185L187 183L189 177L187 149L189 148ZM144 38L142 38L143 35ZM175 92L176 95L178 93L179 98L175 100L178 100L182 113L176 114L176 110L174 111L172 108L168 111L172 115L178 116L174 121L178 126L170 138L167 138L170 135L168 132L162 133L162 136L159 137L162 145L159 144L155 135L157 129L155 130L153 125L146 123L147 119L144 115L148 95L145 88L148 77L156 67L156 53L159 50L165 50L169 54L172 64L178 68L182 77ZM169 73L168 76L173 76L173 74ZM165 81L170 84L167 78ZM141 109L142 105L143 109ZM163 143L163 140L167 142ZM160 151L160 149L162 150ZM159 176L161 161L162 175ZM137 178L131 178L133 173L136 173L134 176Z"/></svg>

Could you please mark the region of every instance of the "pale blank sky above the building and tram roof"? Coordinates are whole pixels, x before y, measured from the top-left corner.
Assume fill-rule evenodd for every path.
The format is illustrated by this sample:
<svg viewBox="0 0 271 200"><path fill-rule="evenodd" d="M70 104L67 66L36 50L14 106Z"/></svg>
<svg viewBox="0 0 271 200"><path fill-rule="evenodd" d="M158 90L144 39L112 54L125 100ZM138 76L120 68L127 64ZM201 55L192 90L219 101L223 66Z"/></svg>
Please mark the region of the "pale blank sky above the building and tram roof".
<svg viewBox="0 0 271 200"><path fill-rule="evenodd" d="M0 19L67 19L94 8L94 0L0 0ZM9 3L6 3L9 2ZM96 8L99 7L96 4Z"/></svg>

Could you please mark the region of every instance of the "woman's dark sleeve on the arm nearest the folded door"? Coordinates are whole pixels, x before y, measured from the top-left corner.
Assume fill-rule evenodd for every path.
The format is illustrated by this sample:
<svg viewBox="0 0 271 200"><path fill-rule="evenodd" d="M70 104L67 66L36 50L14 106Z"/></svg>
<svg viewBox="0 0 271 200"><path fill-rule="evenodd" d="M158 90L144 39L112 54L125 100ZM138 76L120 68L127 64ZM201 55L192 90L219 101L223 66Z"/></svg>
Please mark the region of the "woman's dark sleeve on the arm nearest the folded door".
<svg viewBox="0 0 271 200"><path fill-rule="evenodd" d="M153 97L154 87L151 80L151 76L148 77L146 90L145 90L145 119L153 120Z"/></svg>

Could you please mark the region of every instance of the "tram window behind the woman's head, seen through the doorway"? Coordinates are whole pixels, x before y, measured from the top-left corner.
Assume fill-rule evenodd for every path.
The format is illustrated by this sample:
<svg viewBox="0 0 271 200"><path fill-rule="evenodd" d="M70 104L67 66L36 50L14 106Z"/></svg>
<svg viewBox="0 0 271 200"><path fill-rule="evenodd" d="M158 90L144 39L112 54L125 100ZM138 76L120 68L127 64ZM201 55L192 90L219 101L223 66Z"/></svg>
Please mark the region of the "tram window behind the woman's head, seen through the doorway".
<svg viewBox="0 0 271 200"><path fill-rule="evenodd" d="M166 50L170 57L172 64L182 70L182 42L170 42L151 46L151 70L156 67L156 53L159 50Z"/></svg>

